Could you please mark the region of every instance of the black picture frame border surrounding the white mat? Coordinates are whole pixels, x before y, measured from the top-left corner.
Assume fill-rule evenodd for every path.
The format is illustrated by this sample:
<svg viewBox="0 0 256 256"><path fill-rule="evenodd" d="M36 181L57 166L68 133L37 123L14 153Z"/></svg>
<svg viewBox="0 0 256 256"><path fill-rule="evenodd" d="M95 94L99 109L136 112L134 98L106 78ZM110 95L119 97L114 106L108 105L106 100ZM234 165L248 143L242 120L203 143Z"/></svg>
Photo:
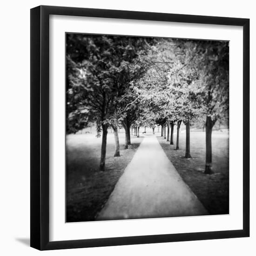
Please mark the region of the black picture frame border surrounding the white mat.
<svg viewBox="0 0 256 256"><path fill-rule="evenodd" d="M243 229L49 242L49 15L243 27ZM249 236L249 19L74 7L31 9L31 247L40 250Z"/></svg>

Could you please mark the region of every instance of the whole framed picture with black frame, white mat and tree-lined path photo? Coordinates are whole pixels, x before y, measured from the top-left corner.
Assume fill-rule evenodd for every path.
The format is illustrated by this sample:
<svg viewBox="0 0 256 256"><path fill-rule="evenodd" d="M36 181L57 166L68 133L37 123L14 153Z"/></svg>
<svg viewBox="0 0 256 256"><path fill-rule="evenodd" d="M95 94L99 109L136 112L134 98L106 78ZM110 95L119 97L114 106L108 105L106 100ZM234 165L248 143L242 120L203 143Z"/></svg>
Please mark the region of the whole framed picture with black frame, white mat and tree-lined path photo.
<svg viewBox="0 0 256 256"><path fill-rule="evenodd" d="M31 9L31 247L249 236L249 19Z"/></svg>

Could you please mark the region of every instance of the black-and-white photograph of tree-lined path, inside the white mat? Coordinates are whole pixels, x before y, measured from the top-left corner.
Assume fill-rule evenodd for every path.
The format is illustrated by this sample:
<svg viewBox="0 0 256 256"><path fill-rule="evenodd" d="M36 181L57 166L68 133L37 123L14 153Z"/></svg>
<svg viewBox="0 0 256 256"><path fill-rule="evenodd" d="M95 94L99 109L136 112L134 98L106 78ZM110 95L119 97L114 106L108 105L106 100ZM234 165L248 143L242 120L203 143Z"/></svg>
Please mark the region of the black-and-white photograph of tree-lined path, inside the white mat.
<svg viewBox="0 0 256 256"><path fill-rule="evenodd" d="M229 214L229 41L66 33L66 222Z"/></svg>

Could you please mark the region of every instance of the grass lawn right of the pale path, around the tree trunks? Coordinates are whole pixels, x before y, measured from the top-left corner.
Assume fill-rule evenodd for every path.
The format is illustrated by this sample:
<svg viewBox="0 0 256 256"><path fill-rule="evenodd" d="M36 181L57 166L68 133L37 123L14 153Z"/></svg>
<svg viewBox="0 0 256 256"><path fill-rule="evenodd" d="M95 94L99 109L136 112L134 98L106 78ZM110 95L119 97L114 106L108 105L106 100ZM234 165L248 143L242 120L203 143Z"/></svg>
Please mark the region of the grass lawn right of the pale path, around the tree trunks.
<svg viewBox="0 0 256 256"><path fill-rule="evenodd" d="M176 142L174 134L174 143ZM229 134L226 131L213 131L213 175L205 175L205 133L191 132L190 154L192 159L185 159L186 133L180 133L180 150L162 137L157 137L165 154L173 163L190 189L202 202L209 214L229 214Z"/></svg>

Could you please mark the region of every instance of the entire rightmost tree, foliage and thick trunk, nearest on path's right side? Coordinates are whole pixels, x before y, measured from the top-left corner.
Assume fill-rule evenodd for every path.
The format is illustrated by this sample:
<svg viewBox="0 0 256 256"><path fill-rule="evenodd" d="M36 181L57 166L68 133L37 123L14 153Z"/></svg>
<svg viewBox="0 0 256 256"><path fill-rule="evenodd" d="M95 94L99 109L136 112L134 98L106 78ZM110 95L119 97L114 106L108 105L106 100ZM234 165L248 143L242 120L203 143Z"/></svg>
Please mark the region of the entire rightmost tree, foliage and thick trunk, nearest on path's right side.
<svg viewBox="0 0 256 256"><path fill-rule="evenodd" d="M200 74L200 103L206 114L205 174L212 174L212 129L229 112L229 42L205 41L197 58Z"/></svg>

